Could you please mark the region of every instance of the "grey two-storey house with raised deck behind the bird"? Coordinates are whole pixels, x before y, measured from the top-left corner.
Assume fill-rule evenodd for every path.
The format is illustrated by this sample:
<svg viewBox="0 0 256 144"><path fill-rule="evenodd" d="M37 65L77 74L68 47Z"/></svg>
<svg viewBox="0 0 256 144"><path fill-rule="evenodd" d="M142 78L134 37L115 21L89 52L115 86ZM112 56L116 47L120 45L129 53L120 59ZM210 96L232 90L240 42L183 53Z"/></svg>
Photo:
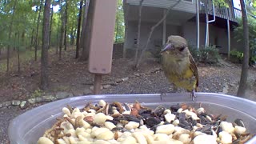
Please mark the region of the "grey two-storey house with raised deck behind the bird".
<svg viewBox="0 0 256 144"><path fill-rule="evenodd" d="M140 0L125 0L124 3L126 22L124 48L126 49L132 49L137 44L139 2ZM150 28L159 22L166 13L166 10L170 6L174 6L176 2L178 0L144 0L142 2L139 47L145 46ZM223 54L227 54L230 49L242 50L242 42L237 42L234 38L234 26L238 25L237 18L241 18L242 13L241 10L234 7L234 2L230 1L228 5L228 8L216 6L216 4L214 6L212 0L181 0L170 10L166 20L154 30L148 49L161 47L170 35L181 35L186 38L190 45L198 47L206 45L216 46L219 52ZM206 38L207 18L209 22L208 40Z"/></svg>

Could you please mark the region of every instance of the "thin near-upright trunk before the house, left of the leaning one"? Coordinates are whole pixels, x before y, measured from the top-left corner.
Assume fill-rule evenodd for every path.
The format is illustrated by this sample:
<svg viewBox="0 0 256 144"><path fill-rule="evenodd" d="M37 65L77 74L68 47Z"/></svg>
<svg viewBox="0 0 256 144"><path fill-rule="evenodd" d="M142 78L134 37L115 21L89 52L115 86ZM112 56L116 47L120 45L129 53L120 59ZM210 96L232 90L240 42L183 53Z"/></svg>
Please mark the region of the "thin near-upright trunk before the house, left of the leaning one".
<svg viewBox="0 0 256 144"><path fill-rule="evenodd" d="M138 35L137 35L137 46L134 56L134 65L136 66L136 62L138 61L138 50L140 45L140 38L141 38L141 23L142 23L142 3L144 0L139 2L139 11L138 11Z"/></svg>

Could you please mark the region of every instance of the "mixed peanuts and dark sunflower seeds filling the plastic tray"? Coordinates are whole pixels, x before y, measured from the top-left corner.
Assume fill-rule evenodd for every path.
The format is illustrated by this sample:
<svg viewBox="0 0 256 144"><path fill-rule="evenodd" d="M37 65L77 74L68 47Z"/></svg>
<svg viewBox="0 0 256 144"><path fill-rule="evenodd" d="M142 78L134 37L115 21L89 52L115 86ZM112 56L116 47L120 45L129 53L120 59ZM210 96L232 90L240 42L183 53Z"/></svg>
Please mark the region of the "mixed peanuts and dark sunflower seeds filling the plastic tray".
<svg viewBox="0 0 256 144"><path fill-rule="evenodd" d="M245 143L242 119L226 122L226 116L207 114L186 104L154 109L100 100L82 109L66 106L64 116L38 139L38 144L227 144Z"/></svg>

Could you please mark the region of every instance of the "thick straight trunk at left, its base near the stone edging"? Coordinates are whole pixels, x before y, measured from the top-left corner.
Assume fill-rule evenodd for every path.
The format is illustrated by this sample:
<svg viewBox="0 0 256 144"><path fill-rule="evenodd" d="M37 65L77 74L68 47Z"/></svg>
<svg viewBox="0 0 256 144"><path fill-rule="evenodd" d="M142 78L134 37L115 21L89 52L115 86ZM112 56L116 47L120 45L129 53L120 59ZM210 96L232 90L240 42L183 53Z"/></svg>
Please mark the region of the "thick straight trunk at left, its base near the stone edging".
<svg viewBox="0 0 256 144"><path fill-rule="evenodd" d="M50 0L46 0L42 24L41 89L48 88L48 49L50 35Z"/></svg>

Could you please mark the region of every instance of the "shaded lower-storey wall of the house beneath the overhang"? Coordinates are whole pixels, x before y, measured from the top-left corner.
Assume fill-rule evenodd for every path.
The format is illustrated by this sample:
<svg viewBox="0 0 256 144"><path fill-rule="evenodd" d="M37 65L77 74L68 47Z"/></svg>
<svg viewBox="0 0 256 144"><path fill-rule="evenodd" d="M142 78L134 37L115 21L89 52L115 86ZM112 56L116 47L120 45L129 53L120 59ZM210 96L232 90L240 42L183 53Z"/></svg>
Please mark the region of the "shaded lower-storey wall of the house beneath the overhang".
<svg viewBox="0 0 256 144"><path fill-rule="evenodd" d="M142 22L141 26L141 41L140 47L146 45L147 38L150 34L150 28L154 26L152 22ZM135 48L134 39L137 39L138 22L129 22L128 38L126 39L125 46L128 49ZM186 38L190 45L196 46L197 42L197 26L195 22L186 22L183 26L174 26L166 24L166 39L170 35L181 35ZM226 29L218 28L210 24L209 26L209 43L210 45L221 46L220 53L227 53L227 32ZM205 45L206 24L200 23L200 46ZM231 32L231 50L242 50L242 42L237 42L234 39L234 33ZM162 25L158 26L152 34L148 49L153 49L155 45L162 45Z"/></svg>

